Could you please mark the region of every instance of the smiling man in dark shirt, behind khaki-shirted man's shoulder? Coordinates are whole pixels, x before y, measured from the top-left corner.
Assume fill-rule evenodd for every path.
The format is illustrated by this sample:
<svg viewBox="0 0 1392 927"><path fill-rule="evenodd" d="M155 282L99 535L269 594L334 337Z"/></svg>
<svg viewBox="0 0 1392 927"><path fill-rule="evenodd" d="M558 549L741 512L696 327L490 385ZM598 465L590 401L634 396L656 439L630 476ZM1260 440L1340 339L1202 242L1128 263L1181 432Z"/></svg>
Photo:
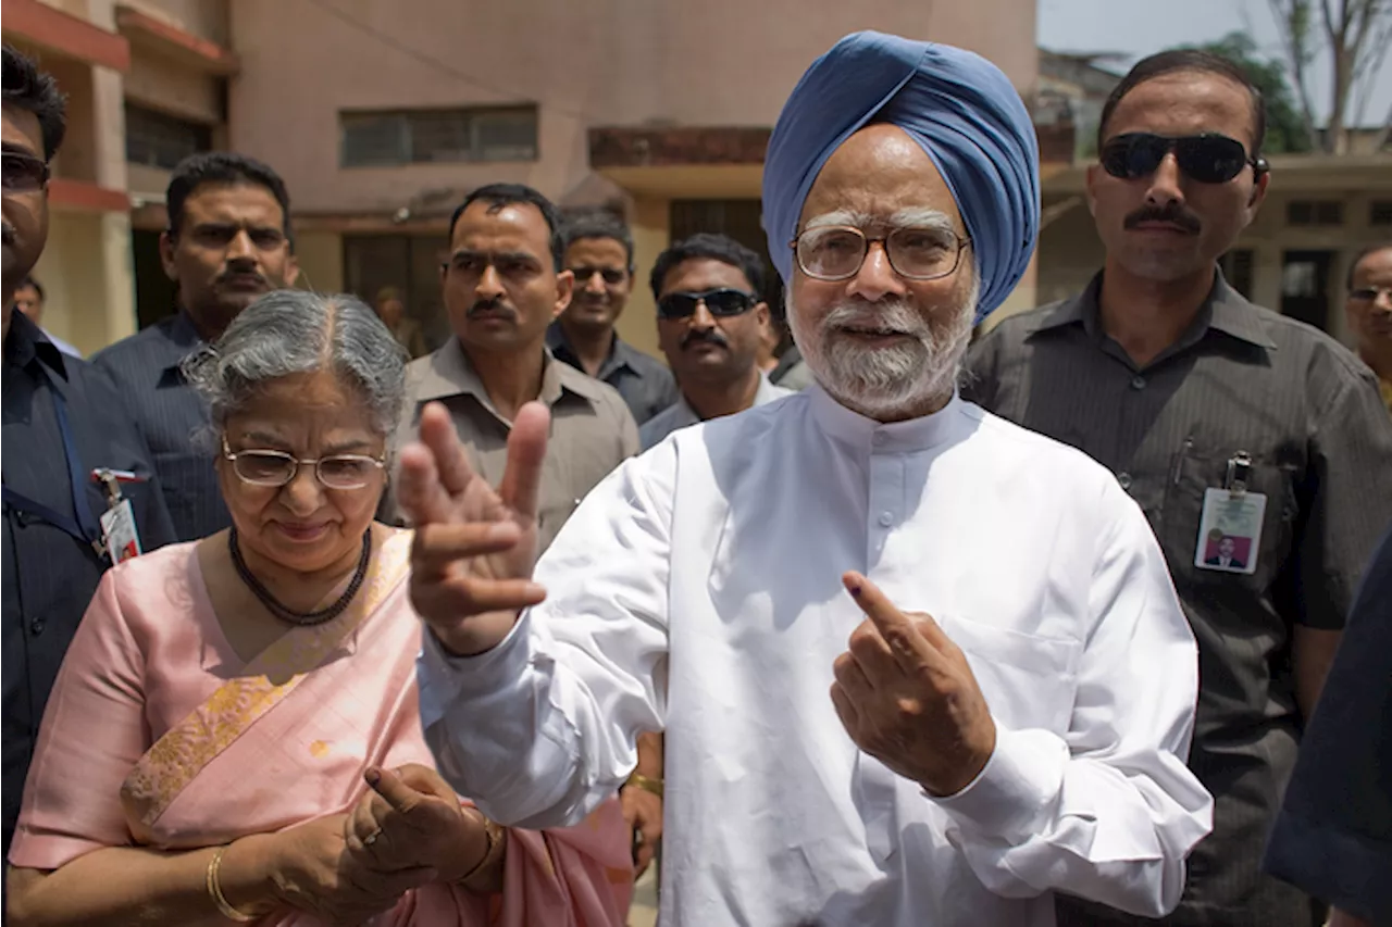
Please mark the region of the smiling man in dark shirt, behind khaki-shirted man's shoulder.
<svg viewBox="0 0 1392 927"><path fill-rule="evenodd" d="M551 323L546 344L557 360L608 383L643 425L678 399L671 372L628 345L614 323L633 290L633 234L607 209L565 220L565 266L575 274L571 305Z"/></svg>

